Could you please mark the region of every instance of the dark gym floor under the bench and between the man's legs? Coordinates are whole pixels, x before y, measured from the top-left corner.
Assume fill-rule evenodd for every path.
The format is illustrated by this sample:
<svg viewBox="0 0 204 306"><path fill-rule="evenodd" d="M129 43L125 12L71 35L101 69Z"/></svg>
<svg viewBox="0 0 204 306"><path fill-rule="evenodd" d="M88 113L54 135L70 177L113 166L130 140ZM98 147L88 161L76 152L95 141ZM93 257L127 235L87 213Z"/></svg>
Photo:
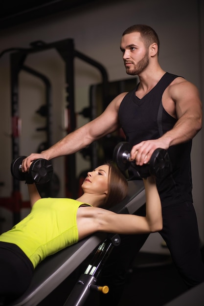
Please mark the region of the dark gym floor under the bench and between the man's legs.
<svg viewBox="0 0 204 306"><path fill-rule="evenodd" d="M202 254L204 255L203 249ZM63 306L71 288L83 271L80 267L39 306ZM140 252L130 270L129 279L118 306L163 306L186 290L187 287L169 255ZM99 306L99 294L101 293L92 291L84 306Z"/></svg>

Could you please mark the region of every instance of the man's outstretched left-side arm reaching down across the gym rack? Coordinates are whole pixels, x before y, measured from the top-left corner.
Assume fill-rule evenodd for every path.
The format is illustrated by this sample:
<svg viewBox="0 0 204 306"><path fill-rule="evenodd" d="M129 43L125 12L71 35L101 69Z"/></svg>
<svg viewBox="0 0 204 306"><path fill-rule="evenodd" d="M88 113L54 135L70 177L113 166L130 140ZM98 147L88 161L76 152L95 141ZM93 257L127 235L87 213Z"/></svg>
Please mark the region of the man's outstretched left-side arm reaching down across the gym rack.
<svg viewBox="0 0 204 306"><path fill-rule="evenodd" d="M58 156L64 156L80 151L91 144L94 140L97 140L118 129L118 109L125 95L126 93L119 94L113 99L113 101L100 116L76 131L69 133L49 149L40 154L30 154L23 160L22 170L24 172L28 171L30 163L37 158L45 158L50 160Z"/></svg>

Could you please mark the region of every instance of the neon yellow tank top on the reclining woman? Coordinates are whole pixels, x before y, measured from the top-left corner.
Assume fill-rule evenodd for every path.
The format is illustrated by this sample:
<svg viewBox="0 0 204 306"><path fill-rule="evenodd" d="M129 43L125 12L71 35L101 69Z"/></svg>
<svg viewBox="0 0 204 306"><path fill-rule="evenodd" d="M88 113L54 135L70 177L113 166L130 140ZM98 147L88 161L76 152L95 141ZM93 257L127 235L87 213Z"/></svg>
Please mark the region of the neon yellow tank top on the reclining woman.
<svg viewBox="0 0 204 306"><path fill-rule="evenodd" d="M35 268L45 257L78 242L76 214L82 204L69 198L42 198L27 217L0 235L0 241L18 245Z"/></svg>

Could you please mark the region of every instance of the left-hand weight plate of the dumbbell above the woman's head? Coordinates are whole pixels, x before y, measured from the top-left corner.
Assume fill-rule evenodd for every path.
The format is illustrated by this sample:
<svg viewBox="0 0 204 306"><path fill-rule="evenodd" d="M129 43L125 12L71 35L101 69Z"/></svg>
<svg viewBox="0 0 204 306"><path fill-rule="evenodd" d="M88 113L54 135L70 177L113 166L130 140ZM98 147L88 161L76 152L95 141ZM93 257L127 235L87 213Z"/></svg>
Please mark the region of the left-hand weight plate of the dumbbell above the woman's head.
<svg viewBox="0 0 204 306"><path fill-rule="evenodd" d="M126 171L129 166L130 151L132 147L129 142L119 142L113 151L113 160L121 171Z"/></svg>

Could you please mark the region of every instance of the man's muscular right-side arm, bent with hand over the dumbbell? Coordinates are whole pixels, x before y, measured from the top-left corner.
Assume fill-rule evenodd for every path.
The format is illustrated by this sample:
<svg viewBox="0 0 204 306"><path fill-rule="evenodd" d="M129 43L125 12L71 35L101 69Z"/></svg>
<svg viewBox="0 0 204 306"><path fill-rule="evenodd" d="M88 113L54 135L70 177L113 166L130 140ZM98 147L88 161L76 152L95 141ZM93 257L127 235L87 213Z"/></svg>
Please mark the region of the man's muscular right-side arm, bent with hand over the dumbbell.
<svg viewBox="0 0 204 306"><path fill-rule="evenodd" d="M131 158L136 159L137 165L147 163L157 148L168 149L192 139L202 128L202 103L197 87L187 81L170 86L168 97L174 103L174 116L178 121L172 130L160 138L138 143L132 148ZM165 107L164 107L165 108Z"/></svg>

